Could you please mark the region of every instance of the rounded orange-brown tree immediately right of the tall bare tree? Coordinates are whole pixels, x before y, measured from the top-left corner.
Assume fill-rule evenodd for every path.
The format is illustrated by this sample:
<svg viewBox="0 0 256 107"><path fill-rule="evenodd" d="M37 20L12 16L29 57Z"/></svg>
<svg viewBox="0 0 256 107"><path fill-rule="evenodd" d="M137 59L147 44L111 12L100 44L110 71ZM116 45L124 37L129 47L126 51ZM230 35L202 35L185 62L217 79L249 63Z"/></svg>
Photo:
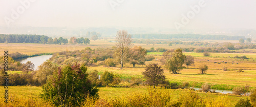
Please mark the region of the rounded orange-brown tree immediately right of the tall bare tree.
<svg viewBox="0 0 256 107"><path fill-rule="evenodd" d="M135 67L135 64L144 65L145 64L145 56L146 56L146 49L141 48L141 46L137 47L134 46L129 50L131 53L129 61Z"/></svg>

